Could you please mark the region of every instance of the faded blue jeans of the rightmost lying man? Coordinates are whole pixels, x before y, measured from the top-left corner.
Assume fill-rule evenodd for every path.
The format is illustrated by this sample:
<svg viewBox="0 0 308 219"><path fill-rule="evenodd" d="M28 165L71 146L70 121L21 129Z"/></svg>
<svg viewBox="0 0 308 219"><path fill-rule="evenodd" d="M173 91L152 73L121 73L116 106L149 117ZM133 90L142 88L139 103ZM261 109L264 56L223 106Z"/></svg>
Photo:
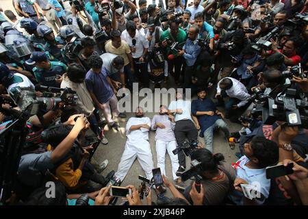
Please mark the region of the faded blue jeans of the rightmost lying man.
<svg viewBox="0 0 308 219"><path fill-rule="evenodd" d="M205 148L211 152L213 152L213 133L216 129L222 129L224 132L224 138L229 138L230 136L227 123L224 123L224 120L221 118L216 120L214 125L204 131Z"/></svg>

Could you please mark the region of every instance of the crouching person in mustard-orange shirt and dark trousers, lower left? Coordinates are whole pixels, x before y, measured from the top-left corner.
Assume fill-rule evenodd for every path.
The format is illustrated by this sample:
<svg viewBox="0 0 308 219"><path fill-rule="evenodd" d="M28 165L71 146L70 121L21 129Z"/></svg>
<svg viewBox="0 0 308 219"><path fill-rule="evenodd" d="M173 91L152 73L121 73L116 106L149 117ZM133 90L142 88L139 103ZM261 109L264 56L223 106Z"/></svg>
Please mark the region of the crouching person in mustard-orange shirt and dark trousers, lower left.
<svg viewBox="0 0 308 219"><path fill-rule="evenodd" d="M86 129L88 127L89 125L86 126ZM64 125L50 127L42 132L42 140L50 144L53 149L56 149L59 142L68 135L71 129L71 126ZM85 133L86 130L83 130L83 132ZM51 169L55 177L64 184L68 193L97 191L107 185L114 175L114 171L110 172L106 178L99 175L94 166L88 161L90 157L89 151L93 149L92 145L84 147L81 144L81 136L79 136L69 153L59 162L56 162L54 168ZM90 181L98 184L92 185Z"/></svg>

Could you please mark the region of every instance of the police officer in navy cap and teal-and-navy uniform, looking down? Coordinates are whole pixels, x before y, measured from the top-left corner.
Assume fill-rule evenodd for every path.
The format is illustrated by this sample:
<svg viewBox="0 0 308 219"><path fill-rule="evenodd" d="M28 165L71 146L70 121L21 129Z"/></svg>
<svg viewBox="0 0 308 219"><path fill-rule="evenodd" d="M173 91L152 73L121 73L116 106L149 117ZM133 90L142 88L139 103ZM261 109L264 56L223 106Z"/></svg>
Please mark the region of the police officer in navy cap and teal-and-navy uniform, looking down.
<svg viewBox="0 0 308 219"><path fill-rule="evenodd" d="M26 63L35 66L33 68L34 76L42 86L60 88L62 75L67 71L65 64L62 62L50 62L46 53L38 51L34 51Z"/></svg>

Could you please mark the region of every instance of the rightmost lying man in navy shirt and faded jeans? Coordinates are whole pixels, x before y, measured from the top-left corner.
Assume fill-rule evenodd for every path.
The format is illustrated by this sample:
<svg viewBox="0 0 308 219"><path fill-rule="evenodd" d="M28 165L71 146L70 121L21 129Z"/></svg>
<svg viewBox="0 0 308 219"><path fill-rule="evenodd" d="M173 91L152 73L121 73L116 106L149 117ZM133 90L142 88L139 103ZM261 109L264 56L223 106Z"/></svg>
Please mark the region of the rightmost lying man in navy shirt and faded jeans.
<svg viewBox="0 0 308 219"><path fill-rule="evenodd" d="M224 115L216 109L211 99L207 98L205 88L198 89L198 100L192 101L192 114L198 118L201 127L200 137L204 137L206 149L213 152L213 134L216 129L224 132L224 138L229 142L229 129L224 122Z"/></svg>

